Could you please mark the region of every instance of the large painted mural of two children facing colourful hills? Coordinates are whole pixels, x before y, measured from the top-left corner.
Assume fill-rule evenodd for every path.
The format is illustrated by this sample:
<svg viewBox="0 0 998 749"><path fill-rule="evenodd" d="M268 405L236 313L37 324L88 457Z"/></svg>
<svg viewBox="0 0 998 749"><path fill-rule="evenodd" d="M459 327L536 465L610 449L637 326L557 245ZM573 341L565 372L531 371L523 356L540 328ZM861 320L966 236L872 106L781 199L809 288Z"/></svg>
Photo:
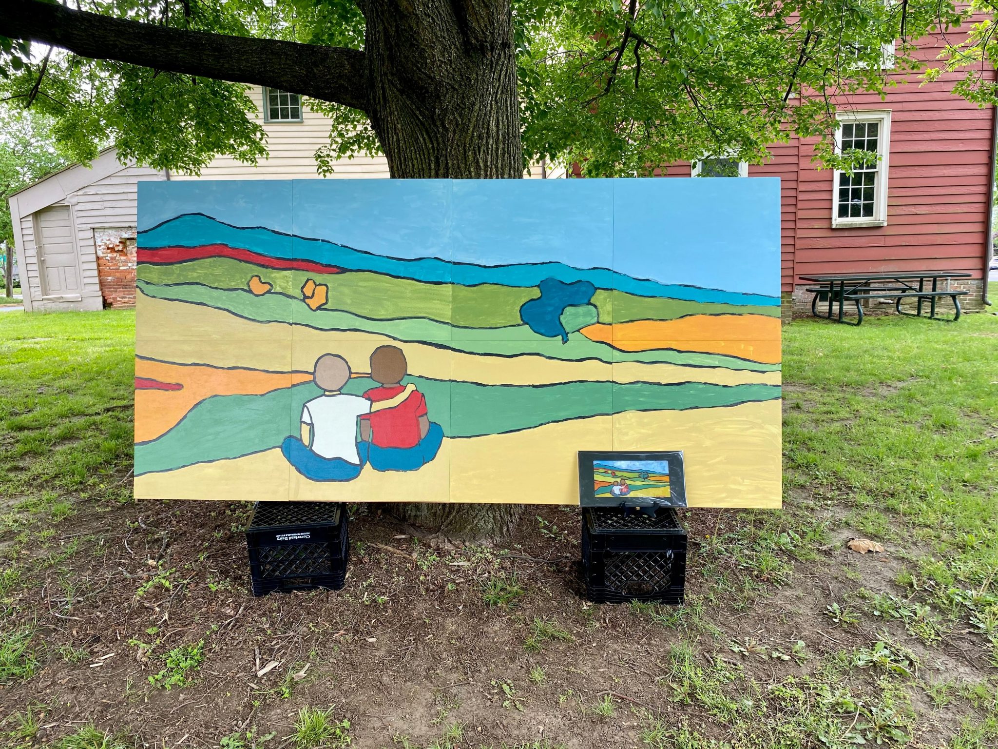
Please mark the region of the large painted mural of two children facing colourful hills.
<svg viewBox="0 0 998 749"><path fill-rule="evenodd" d="M145 182L143 498L579 501L682 450L780 502L769 179Z"/></svg>

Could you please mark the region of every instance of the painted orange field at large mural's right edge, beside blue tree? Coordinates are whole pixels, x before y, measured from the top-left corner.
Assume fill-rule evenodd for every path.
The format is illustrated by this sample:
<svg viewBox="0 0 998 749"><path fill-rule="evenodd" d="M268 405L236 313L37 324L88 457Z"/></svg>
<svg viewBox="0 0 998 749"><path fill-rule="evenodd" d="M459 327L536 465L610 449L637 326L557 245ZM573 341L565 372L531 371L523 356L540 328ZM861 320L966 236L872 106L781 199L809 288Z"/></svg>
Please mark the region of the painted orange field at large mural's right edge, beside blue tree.
<svg viewBox="0 0 998 749"><path fill-rule="evenodd" d="M626 352L676 349L774 365L780 361L779 326L778 318L764 315L691 315L678 320L597 323L580 333Z"/></svg>

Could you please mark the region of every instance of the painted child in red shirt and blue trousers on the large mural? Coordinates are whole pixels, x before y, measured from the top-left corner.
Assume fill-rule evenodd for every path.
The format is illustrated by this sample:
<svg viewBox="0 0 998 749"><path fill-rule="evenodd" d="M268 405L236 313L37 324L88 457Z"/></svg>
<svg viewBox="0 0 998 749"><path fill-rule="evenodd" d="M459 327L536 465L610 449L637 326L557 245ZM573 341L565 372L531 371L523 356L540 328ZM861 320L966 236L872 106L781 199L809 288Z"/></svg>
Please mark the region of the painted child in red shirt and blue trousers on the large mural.
<svg viewBox="0 0 998 749"><path fill-rule="evenodd" d="M416 470L436 457L443 429L430 421L423 393L412 383L402 384L408 363L401 349L378 347L370 367L371 379L380 386L364 397L381 407L360 417L361 451L375 470Z"/></svg>

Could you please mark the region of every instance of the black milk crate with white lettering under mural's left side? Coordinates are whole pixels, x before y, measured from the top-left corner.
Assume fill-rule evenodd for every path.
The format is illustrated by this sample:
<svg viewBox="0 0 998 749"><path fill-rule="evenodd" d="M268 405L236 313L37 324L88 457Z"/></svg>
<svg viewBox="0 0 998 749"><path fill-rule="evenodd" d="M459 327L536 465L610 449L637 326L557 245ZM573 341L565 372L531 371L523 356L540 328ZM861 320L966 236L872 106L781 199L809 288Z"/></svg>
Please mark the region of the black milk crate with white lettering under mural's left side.
<svg viewBox="0 0 998 749"><path fill-rule="evenodd" d="M252 594L339 590L349 541L338 502L256 502L247 528Z"/></svg>

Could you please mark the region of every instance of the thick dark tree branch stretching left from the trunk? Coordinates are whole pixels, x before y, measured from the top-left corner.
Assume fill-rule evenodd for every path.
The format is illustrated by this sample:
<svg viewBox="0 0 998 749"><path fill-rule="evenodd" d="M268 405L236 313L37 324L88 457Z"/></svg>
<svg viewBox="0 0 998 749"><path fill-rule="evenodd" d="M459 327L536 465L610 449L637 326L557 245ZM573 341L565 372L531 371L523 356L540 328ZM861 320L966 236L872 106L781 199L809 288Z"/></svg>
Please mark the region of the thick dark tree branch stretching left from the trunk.
<svg viewBox="0 0 998 749"><path fill-rule="evenodd" d="M0 35L367 110L367 65L360 50L155 26L40 0L2 0Z"/></svg>

